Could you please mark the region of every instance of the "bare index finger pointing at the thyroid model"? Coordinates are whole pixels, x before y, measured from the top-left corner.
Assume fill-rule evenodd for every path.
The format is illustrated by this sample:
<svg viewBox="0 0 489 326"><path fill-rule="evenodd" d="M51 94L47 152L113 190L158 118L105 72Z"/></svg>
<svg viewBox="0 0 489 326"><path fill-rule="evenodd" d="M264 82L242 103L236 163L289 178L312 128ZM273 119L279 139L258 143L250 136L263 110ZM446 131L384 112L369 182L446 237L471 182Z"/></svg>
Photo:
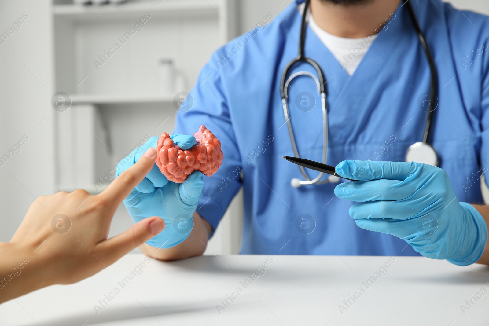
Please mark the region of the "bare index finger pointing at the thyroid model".
<svg viewBox="0 0 489 326"><path fill-rule="evenodd" d="M104 192L97 196L119 205L151 171L155 161L156 150L150 147L132 167L119 175Z"/></svg>

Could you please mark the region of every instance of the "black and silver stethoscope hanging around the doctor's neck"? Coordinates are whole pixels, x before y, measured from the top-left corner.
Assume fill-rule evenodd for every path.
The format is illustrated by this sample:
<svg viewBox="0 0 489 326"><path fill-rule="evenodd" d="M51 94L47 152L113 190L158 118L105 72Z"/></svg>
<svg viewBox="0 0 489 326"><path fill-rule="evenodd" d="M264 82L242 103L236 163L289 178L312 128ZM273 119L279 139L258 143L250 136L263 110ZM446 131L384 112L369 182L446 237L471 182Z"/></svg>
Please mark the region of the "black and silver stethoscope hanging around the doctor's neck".
<svg viewBox="0 0 489 326"><path fill-rule="evenodd" d="M405 1L405 0L404 0ZM284 68L284 72L282 75L282 81L281 81L281 95L282 95L282 107L284 109L284 116L285 120L287 123L287 128L289 130L289 137L290 137L290 143L292 144L292 150L294 152L295 157L299 157L299 151L297 150L297 145L295 143L295 138L294 138L294 133L292 131L292 124L290 122L290 114L289 114L289 106L287 104L288 100L288 89L290 82L297 76L309 76L311 77L314 82L316 83L317 91L321 94L321 109L323 112L323 157L322 157L322 163L326 164L326 160L328 159L328 101L327 101L327 91L325 87L325 78L323 71L321 70L321 67L311 58L308 58L304 55L304 44L306 41L306 26L307 26L307 10L309 8L311 0L306 0L305 5L304 5L304 11L302 15L302 23L301 23L301 31L300 31L300 38L299 38L299 54L297 57L295 57L293 60L291 60ZM416 15L414 13L413 7L411 6L411 3L409 0L404 2L404 5L407 6L409 16L411 17L411 20L413 22L413 25L416 29L416 33L418 34L418 38L420 39L421 45L424 49L424 53L426 54L426 58L428 59L428 63L430 66L430 71L431 71L431 87L430 87L430 95L428 98L429 101L429 106L428 106L428 111L426 112L426 125L424 127L424 132L423 132L423 137L421 142L417 142L409 146L407 152L406 152L406 162L420 162L420 163L425 163L425 164L430 164L433 166L438 165L438 154L436 150L433 148L428 143L428 140L430 138L431 134L431 120L433 117L433 111L436 109L436 89L438 87L438 78L436 74L436 66L435 66L435 61L433 60L433 57L431 55L431 52L428 48L428 44L426 43L426 39L424 38L424 35L422 33L420 24L418 20L416 19ZM289 74L289 70L291 67L298 63L298 62L305 62L314 67L316 69L317 77L307 71L300 71L300 72L295 72L292 75L290 75L289 79L286 79L287 75ZM433 99L433 100L432 100ZM299 166L299 170L301 171L302 176L304 177L305 180L300 180L298 178L293 178L290 180L290 184L292 187L297 188L302 185L310 185L310 184L324 184L327 182L332 182L336 183L339 182L339 177L337 176L329 176L327 179L321 180L323 173L319 173L314 179L311 179L309 175L306 173L304 168L302 166Z"/></svg>

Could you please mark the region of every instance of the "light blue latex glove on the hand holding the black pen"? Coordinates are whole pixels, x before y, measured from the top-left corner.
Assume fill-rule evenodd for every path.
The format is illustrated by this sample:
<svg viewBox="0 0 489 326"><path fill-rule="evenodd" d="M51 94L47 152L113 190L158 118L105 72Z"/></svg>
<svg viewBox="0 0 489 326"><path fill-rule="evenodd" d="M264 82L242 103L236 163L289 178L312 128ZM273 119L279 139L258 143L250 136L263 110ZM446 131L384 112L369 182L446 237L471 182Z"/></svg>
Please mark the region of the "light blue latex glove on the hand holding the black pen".
<svg viewBox="0 0 489 326"><path fill-rule="evenodd" d="M445 170L422 163L343 161L336 172L354 180L336 186L339 198L359 201L350 216L362 229L392 234L424 257L456 265L479 260L488 239L481 214L459 202Z"/></svg>

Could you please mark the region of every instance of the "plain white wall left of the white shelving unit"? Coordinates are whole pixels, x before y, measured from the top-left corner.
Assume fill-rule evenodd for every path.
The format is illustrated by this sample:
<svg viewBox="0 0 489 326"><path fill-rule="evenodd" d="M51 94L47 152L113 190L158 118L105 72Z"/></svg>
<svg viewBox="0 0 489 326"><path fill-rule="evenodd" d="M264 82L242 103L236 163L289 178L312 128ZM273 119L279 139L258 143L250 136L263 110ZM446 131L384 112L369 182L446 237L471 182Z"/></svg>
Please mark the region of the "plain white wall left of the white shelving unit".
<svg viewBox="0 0 489 326"><path fill-rule="evenodd" d="M37 1L0 2L0 33L28 15L0 44L0 156L28 137L0 166L0 241L10 240L35 197L54 190L51 22L49 0Z"/></svg>

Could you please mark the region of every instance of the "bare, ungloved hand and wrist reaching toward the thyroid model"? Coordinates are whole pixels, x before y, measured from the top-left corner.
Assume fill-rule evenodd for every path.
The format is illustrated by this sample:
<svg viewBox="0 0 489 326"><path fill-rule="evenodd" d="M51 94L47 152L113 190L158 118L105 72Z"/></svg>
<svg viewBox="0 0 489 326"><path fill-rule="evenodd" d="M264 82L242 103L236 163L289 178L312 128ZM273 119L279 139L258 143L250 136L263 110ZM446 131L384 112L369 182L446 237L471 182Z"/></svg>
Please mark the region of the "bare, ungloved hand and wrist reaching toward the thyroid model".
<svg viewBox="0 0 489 326"><path fill-rule="evenodd" d="M163 230L161 218L148 217L108 239L117 207L155 160L156 151L149 148L96 196L76 190L37 198L11 241L0 243L0 303L51 284L81 281Z"/></svg>

